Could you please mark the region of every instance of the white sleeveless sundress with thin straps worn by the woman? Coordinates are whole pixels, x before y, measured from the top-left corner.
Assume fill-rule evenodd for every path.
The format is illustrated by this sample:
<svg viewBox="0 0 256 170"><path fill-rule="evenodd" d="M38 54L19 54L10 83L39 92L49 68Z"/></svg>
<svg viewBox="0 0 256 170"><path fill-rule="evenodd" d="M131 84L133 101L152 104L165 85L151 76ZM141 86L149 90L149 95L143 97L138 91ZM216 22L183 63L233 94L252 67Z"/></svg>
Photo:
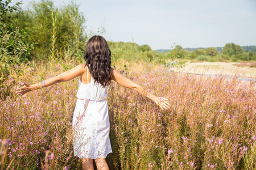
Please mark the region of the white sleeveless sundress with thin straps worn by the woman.
<svg viewBox="0 0 256 170"><path fill-rule="evenodd" d="M72 121L74 155L79 158L106 158L109 153L112 153L109 139L107 90L108 86L102 88L98 82L94 84L93 77L88 84L82 83L79 78Z"/></svg>

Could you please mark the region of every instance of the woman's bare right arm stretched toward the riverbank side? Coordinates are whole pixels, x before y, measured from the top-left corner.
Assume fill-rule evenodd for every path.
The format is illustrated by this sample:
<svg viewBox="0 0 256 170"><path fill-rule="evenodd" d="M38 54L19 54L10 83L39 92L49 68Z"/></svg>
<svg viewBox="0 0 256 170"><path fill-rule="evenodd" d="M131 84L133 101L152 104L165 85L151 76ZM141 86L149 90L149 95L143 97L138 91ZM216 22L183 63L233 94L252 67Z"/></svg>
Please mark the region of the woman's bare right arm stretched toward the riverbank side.
<svg viewBox="0 0 256 170"><path fill-rule="evenodd" d="M139 94L146 96L149 99L155 101L155 103L159 105L161 109L170 108L170 104L167 102L168 99L164 97L158 97L151 94L150 92L147 92L142 86L139 86L139 84L134 83L132 80L126 78L125 76L123 76L113 68L112 68L112 79L118 84L120 84L121 86L135 90Z"/></svg>

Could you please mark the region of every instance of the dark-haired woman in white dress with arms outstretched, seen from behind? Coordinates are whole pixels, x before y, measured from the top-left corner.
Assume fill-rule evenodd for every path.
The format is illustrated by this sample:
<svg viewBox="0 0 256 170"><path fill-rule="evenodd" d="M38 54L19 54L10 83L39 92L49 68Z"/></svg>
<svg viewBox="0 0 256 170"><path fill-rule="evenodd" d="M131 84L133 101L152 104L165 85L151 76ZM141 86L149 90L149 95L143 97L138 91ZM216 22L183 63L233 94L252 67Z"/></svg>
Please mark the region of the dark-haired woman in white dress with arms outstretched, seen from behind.
<svg viewBox="0 0 256 170"><path fill-rule="evenodd" d="M86 64L80 64L37 84L24 83L24 86L16 91L16 94L24 95L38 88L42 89L55 83L72 80L77 76L80 77L76 108L73 114L73 128L77 129L77 134L79 134L74 137L74 155L82 159L82 169L93 169L93 159L98 169L109 169L105 158L112 152L112 148L109 139L108 105L105 98L108 97L107 90L112 80L155 101L162 109L170 107L168 99L146 92L143 87L110 67L110 56L111 52L104 37L93 36L86 45L84 56ZM79 121L79 126L77 126Z"/></svg>

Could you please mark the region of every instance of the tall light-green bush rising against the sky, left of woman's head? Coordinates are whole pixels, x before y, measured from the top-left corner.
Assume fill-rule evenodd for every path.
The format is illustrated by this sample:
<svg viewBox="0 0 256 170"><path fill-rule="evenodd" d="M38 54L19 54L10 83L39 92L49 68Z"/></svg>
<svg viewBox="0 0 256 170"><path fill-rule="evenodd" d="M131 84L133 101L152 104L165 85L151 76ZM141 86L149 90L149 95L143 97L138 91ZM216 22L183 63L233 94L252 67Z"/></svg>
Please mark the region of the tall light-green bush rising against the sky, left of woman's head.
<svg viewBox="0 0 256 170"><path fill-rule="evenodd" d="M85 16L75 2L61 7L54 6L50 0L32 2L13 24L27 32L29 41L35 44L36 58L47 59L52 54L63 58L65 50L72 57L84 53Z"/></svg>

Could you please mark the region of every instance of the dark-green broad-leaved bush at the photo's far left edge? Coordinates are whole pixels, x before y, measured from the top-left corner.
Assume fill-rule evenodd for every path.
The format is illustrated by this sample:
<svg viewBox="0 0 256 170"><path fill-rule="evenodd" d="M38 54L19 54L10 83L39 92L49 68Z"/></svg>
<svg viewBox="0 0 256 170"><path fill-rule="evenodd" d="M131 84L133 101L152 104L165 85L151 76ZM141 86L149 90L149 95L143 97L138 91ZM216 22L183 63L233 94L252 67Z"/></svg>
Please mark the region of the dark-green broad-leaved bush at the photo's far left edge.
<svg viewBox="0 0 256 170"><path fill-rule="evenodd" d="M18 66L30 59L28 49L33 48L32 45L26 44L27 37L12 24L13 20L17 18L20 3L10 6L10 2L0 1L0 82L9 78L12 68L15 68L16 74L22 71L18 69Z"/></svg>

